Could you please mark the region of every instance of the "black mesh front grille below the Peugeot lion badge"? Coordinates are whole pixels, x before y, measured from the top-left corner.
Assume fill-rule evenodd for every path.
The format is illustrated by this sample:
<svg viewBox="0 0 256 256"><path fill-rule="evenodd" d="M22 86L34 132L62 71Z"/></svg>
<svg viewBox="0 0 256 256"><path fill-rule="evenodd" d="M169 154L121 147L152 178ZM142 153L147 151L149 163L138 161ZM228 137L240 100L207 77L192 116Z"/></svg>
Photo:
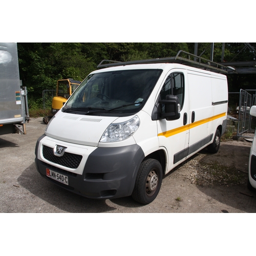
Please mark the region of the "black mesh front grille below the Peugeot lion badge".
<svg viewBox="0 0 256 256"><path fill-rule="evenodd" d="M46 145L42 146L42 155L48 161L73 169L76 169L82 160L82 156L67 152L62 157L54 156L53 148Z"/></svg>

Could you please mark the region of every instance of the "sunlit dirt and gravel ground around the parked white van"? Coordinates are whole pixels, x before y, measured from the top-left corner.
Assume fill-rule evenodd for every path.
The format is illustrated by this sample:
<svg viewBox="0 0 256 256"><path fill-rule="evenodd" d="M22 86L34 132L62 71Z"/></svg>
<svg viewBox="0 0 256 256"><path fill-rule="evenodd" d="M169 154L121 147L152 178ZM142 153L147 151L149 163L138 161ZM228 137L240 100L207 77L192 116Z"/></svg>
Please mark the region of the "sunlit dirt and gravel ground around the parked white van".
<svg viewBox="0 0 256 256"><path fill-rule="evenodd" d="M156 200L141 205L131 197L93 200L41 178L34 164L42 118L27 135L0 136L0 212L256 212L256 193L247 189L251 143L223 141L217 154L202 150L166 175Z"/></svg>

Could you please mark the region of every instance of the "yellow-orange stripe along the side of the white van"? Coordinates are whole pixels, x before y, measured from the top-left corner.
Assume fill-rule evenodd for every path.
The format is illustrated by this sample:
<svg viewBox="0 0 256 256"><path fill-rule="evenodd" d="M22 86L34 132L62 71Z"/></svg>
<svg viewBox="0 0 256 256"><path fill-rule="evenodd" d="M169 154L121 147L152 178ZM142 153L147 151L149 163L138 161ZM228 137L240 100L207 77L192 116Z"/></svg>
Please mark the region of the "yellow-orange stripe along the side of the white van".
<svg viewBox="0 0 256 256"><path fill-rule="evenodd" d="M170 136L173 136L173 135L176 135L176 134L185 132L185 131L187 131L188 129L192 129L192 128L196 127L196 126L199 126L199 125L201 125L201 124L204 124L204 123L213 121L213 120L218 119L218 118L221 118L221 117L223 117L223 116L226 116L226 113L222 113L222 114L219 114L219 115L216 115L216 116L212 116L212 117L209 117L209 118L205 118L205 119L202 119L202 120L200 120L200 121L196 121L196 122L194 122L194 123L190 123L190 124L187 124L187 125L178 127L178 128L176 128L176 129L173 129L173 130L169 130L169 131L166 131L166 132L163 132L163 133L159 133L158 136L165 136L166 138L168 138L168 137L170 137Z"/></svg>

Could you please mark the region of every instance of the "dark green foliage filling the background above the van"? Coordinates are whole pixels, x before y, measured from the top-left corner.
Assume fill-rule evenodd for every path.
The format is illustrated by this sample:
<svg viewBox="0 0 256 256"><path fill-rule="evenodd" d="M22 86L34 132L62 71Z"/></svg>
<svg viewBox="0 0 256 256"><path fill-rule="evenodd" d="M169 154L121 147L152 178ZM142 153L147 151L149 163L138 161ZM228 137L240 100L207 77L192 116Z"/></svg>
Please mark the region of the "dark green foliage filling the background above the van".
<svg viewBox="0 0 256 256"><path fill-rule="evenodd" d="M256 47L255 43L251 43ZM194 53L195 43L186 42L20 42L19 73L27 87L30 109L42 107L42 91L55 90L58 79L83 80L103 59L130 61L175 56L179 50ZM198 55L209 59L210 42L198 44ZM222 43L214 45L214 61L222 58ZM255 60L244 43L226 43L225 61ZM255 74L228 75L229 91L255 89Z"/></svg>

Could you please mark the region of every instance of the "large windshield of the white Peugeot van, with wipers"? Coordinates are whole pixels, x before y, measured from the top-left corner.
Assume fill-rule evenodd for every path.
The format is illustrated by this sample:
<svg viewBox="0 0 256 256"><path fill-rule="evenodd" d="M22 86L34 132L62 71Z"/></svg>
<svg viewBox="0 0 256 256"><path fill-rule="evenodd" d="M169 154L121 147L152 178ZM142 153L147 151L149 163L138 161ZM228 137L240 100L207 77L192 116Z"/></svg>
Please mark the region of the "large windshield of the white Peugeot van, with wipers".
<svg viewBox="0 0 256 256"><path fill-rule="evenodd" d="M62 112L130 115L142 109L162 70L120 70L89 75Z"/></svg>

